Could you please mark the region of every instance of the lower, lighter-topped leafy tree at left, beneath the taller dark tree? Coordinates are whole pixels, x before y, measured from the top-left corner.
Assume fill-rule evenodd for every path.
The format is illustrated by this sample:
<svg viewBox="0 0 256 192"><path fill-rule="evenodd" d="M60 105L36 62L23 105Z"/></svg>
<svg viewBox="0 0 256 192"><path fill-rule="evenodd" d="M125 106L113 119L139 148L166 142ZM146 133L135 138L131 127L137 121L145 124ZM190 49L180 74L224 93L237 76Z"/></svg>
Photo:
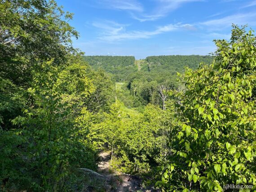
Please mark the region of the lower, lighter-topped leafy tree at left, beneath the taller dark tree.
<svg viewBox="0 0 256 192"><path fill-rule="evenodd" d="M11 174L14 173L9 172L1 175L3 178L21 183L21 175L26 175L24 179L32 183L27 188L61 191L71 167L96 168L93 162L96 153L88 144L79 141L80 135L74 134L78 130L73 126L79 108L84 105L83 100L94 90L85 72L84 65L55 67L49 61L32 73L34 83L28 89L32 103L23 110L24 115L12 120L14 126L20 127L14 131L20 135L17 144L22 149L15 159L21 161L21 168L16 170L20 177L13 178ZM12 138L9 135L8 140Z"/></svg>

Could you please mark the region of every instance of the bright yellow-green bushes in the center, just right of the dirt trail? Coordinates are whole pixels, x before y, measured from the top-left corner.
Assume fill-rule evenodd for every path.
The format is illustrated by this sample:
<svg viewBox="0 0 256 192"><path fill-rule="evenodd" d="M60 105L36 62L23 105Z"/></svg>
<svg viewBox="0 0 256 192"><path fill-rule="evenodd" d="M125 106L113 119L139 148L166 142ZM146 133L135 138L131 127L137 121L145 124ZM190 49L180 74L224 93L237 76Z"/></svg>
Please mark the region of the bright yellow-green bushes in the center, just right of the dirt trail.
<svg viewBox="0 0 256 192"><path fill-rule="evenodd" d="M125 173L147 174L158 165L161 142L162 110L148 105L143 114L125 113L117 100L103 122L95 127L101 130L103 141L111 151L110 166ZM102 142L103 144L104 142Z"/></svg>

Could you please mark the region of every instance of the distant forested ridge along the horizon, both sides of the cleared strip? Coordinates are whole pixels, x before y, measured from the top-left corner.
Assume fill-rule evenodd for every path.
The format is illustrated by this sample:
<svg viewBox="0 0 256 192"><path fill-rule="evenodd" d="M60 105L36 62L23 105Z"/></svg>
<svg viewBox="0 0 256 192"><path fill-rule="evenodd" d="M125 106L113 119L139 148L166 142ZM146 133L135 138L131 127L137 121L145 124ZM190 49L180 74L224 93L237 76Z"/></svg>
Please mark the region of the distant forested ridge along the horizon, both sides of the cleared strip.
<svg viewBox="0 0 256 192"><path fill-rule="evenodd" d="M211 56L150 56L146 59L136 60L132 56L84 56L85 61L94 69L102 68L114 75L116 82L156 81L158 83L176 83L177 72L182 73L184 67L196 69L199 63L210 64Z"/></svg>

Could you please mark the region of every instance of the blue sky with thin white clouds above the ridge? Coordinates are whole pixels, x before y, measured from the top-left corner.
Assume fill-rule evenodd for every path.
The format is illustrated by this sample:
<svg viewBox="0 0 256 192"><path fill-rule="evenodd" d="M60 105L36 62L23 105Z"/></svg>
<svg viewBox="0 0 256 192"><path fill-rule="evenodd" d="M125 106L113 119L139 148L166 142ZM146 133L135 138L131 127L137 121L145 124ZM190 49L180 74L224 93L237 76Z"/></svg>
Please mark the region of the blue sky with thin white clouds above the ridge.
<svg viewBox="0 0 256 192"><path fill-rule="evenodd" d="M57 0L85 55L207 55L232 23L256 30L256 0Z"/></svg>

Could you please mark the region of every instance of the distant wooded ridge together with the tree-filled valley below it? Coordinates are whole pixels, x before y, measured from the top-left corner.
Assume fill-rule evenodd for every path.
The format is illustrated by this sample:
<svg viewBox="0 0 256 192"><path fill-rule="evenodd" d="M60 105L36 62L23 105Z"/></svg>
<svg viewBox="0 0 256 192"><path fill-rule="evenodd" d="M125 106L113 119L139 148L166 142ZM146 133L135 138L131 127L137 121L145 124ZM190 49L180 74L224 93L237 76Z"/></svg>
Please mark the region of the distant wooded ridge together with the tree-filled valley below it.
<svg viewBox="0 0 256 192"><path fill-rule="evenodd" d="M211 56L151 56L136 60L134 57L121 56L85 56L85 61L94 69L103 69L114 76L114 81L124 82L133 100L126 98L125 104L139 107L152 103L163 105L159 98L159 86L178 87L177 73L183 73L185 67L197 69L200 63L209 65L213 61ZM124 90L127 88L123 87Z"/></svg>

